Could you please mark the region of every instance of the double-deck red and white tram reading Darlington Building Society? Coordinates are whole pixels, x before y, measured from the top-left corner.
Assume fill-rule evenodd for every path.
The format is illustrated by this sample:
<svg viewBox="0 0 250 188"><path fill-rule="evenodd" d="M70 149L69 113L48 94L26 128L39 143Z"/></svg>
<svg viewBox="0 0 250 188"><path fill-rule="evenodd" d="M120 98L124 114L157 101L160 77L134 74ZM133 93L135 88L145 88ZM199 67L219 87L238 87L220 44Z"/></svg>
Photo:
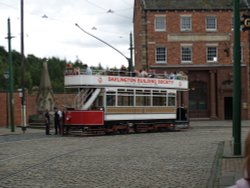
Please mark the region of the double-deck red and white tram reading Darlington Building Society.
<svg viewBox="0 0 250 188"><path fill-rule="evenodd" d="M186 78L79 72L65 74L64 84L77 93L64 111L64 134L162 131L174 129L177 118L179 123L189 123L177 108L177 92L188 89Z"/></svg>

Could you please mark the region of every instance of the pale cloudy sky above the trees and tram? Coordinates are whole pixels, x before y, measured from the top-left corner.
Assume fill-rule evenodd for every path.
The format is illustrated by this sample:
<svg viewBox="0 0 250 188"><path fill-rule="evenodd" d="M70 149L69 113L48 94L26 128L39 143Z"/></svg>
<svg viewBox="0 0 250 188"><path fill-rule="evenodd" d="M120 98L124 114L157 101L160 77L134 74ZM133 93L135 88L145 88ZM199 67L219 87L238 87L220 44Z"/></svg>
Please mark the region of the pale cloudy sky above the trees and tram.
<svg viewBox="0 0 250 188"><path fill-rule="evenodd" d="M126 58L75 26L130 57L134 0L24 0L24 52L97 66L128 65ZM20 0L0 0L0 46L8 49L7 19L12 49L20 52Z"/></svg>

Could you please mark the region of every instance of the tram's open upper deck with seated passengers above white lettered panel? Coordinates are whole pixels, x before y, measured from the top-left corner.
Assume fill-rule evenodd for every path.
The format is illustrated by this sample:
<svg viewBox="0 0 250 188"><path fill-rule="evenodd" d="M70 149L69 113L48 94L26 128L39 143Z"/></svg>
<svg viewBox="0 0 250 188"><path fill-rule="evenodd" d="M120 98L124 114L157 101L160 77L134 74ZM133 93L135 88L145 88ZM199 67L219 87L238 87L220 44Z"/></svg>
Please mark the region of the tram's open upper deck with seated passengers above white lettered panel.
<svg viewBox="0 0 250 188"><path fill-rule="evenodd" d="M92 75L86 75L84 71L66 70L64 85L66 88L148 87L187 90L188 78L183 73L174 75L148 74L147 77L141 77L125 71L98 71L93 72Z"/></svg>

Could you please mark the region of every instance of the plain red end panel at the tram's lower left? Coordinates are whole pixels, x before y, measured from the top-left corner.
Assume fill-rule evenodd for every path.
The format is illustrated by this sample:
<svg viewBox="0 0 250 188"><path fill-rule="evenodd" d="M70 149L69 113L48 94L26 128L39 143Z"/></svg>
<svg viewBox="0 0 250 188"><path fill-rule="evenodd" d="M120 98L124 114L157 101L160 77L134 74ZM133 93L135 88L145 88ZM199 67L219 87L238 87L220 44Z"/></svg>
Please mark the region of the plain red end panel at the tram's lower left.
<svg viewBox="0 0 250 188"><path fill-rule="evenodd" d="M103 125L103 111L67 111L65 125Z"/></svg>

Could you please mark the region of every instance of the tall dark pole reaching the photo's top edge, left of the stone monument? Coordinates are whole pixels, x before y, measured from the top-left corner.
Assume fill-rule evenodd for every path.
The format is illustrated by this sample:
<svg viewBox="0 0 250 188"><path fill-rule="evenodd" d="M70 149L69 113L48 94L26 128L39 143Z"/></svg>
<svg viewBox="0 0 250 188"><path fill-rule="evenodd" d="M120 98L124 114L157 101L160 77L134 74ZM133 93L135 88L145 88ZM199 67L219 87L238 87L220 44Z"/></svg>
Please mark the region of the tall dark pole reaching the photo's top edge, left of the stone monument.
<svg viewBox="0 0 250 188"><path fill-rule="evenodd" d="M21 101L21 117L22 117L22 130L23 133L26 131L26 101L25 101L25 89L24 89L24 75L25 75L25 65L24 65L24 39L23 39L23 0L21 0L21 86L22 86L22 101Z"/></svg>

